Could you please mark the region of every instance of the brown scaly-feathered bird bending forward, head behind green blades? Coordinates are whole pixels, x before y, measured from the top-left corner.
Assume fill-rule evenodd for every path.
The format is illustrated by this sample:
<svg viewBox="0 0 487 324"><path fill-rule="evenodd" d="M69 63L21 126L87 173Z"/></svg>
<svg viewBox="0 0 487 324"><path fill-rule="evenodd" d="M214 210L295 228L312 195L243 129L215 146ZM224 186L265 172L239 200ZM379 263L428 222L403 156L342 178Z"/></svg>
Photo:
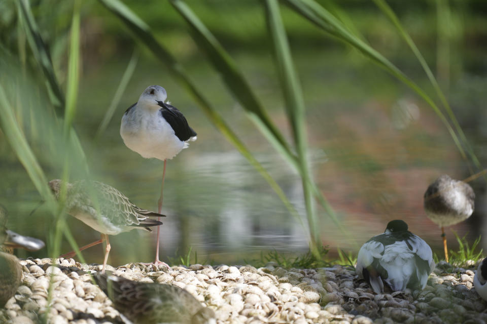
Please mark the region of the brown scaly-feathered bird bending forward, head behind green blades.
<svg viewBox="0 0 487 324"><path fill-rule="evenodd" d="M60 197L61 183L62 181L59 179L49 181L49 187L56 199ZM90 191L97 198L96 203L92 201ZM97 205L99 206L99 213L96 209ZM111 249L108 235L117 235L134 228L152 232L149 227L162 225L162 223L149 217L165 217L165 215L135 206L123 193L108 184L85 180L66 184L66 208L68 214L101 233L99 240L80 248L80 251L104 240L107 241L101 271L105 271ZM75 254L75 252L70 252L62 255L62 257L72 257Z"/></svg>

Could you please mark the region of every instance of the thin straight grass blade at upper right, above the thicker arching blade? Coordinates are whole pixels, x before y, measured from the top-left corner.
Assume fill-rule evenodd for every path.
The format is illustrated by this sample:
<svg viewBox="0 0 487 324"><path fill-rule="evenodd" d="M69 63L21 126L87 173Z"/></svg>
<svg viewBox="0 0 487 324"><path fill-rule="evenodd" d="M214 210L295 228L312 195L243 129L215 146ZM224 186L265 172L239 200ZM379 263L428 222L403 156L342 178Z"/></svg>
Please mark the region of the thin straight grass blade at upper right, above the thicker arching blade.
<svg viewBox="0 0 487 324"><path fill-rule="evenodd" d="M444 95L443 91L441 90L433 72L431 71L430 67L428 66L428 63L426 63L425 58L421 54L420 50L414 44L411 36L407 33L407 31L404 29L402 26L401 22L399 21L399 18L396 16L392 8L387 4L385 0L373 0L373 2L377 5L377 7L384 13L393 23L393 25L396 27L398 30L399 34L401 37L404 39L404 41L407 43L411 51L413 52L414 56L416 56L416 59L420 62L421 66L423 67L423 70L425 71L426 75L428 76L428 79L430 80L431 85L436 91L436 95L441 101L441 104L446 110L446 113L448 117L451 120L451 123L454 125L455 130L457 131L458 135L460 136L460 139L463 142L463 145L465 145L467 152L470 155L470 158L473 161L473 164L475 167L477 167L478 170L482 169L482 166L480 165L480 161L478 160L477 156L475 155L469 141L467 140L465 133L463 132L462 128L460 127L460 124L458 123L458 119L453 113L453 110L451 110L451 107L448 103L448 100L446 100L446 96ZM442 1L437 0L437 6L441 6ZM441 11L438 9L438 11ZM440 21L442 21L438 15L438 24L440 24ZM443 24L443 22L441 22ZM440 29L440 25L438 25L438 29ZM470 166L469 166L470 167ZM470 169L470 174L474 174L473 170Z"/></svg>

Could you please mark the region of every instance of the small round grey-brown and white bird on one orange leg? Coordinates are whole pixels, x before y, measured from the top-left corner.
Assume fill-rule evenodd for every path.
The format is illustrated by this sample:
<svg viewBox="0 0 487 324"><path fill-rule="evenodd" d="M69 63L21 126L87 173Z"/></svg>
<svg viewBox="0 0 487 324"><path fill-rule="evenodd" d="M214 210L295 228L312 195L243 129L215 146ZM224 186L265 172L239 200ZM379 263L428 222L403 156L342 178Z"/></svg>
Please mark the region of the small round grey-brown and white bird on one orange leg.
<svg viewBox="0 0 487 324"><path fill-rule="evenodd" d="M455 225L473 213L475 193L463 181L451 179L444 174L429 185L424 195L426 215L441 227L445 259L448 262L445 226Z"/></svg>

